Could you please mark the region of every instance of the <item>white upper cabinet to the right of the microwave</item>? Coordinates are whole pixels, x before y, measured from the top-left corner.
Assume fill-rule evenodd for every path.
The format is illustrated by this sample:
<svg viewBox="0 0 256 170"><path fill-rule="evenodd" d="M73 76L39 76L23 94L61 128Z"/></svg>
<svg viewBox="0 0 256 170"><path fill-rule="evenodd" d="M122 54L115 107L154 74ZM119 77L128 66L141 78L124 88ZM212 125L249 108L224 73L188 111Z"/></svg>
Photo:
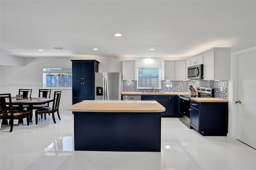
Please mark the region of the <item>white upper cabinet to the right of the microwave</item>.
<svg viewBox="0 0 256 170"><path fill-rule="evenodd" d="M204 80L229 79L229 48L214 48L203 56Z"/></svg>

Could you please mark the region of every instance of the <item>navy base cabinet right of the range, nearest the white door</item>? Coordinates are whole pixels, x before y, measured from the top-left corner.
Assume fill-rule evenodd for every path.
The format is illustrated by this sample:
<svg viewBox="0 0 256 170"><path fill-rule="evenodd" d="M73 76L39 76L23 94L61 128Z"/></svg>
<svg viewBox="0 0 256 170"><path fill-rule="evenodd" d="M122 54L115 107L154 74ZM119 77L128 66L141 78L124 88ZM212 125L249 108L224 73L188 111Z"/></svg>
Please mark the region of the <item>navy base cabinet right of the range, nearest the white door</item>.
<svg viewBox="0 0 256 170"><path fill-rule="evenodd" d="M228 132L227 102L190 101L190 125L204 136L226 136Z"/></svg>

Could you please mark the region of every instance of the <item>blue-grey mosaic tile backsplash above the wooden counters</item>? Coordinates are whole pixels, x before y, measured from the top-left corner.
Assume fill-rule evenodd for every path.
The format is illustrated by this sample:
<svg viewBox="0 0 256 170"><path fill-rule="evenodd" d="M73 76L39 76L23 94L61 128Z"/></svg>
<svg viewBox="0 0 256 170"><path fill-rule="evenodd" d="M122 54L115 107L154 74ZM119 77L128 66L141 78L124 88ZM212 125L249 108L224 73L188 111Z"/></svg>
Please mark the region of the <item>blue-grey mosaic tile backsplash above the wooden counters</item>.
<svg viewBox="0 0 256 170"><path fill-rule="evenodd" d="M166 87L166 85L172 87ZM187 81L161 81L161 89L156 89L156 92L190 92L188 86L194 85L197 87L214 88L214 96L220 99L228 99L228 81L214 81L214 80L187 80ZM220 91L222 87L222 91ZM136 80L123 80L123 91L142 92L152 91L152 89L137 89Z"/></svg>

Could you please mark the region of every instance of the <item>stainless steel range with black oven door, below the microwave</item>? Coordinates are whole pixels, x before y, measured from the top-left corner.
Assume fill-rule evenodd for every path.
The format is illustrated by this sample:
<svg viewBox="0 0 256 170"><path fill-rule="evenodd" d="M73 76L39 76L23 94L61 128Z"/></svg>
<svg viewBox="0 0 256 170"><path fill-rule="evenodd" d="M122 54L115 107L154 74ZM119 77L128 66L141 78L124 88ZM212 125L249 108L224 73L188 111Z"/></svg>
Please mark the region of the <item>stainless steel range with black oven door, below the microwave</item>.
<svg viewBox="0 0 256 170"><path fill-rule="evenodd" d="M190 98L214 97L214 88L198 87L198 94L180 95L180 121L190 127Z"/></svg>

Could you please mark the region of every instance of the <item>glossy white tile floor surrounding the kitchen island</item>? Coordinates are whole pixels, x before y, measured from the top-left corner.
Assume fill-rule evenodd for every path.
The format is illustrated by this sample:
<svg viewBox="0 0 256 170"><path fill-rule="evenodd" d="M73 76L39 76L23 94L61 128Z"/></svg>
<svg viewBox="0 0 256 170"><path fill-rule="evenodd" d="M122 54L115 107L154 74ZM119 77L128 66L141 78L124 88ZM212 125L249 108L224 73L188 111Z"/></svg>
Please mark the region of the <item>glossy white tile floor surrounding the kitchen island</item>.
<svg viewBox="0 0 256 170"><path fill-rule="evenodd" d="M74 151L73 116L61 112L0 129L1 170L256 170L256 150L224 136L202 136L177 118L162 118L161 152ZM104 142L104 141L102 141Z"/></svg>

